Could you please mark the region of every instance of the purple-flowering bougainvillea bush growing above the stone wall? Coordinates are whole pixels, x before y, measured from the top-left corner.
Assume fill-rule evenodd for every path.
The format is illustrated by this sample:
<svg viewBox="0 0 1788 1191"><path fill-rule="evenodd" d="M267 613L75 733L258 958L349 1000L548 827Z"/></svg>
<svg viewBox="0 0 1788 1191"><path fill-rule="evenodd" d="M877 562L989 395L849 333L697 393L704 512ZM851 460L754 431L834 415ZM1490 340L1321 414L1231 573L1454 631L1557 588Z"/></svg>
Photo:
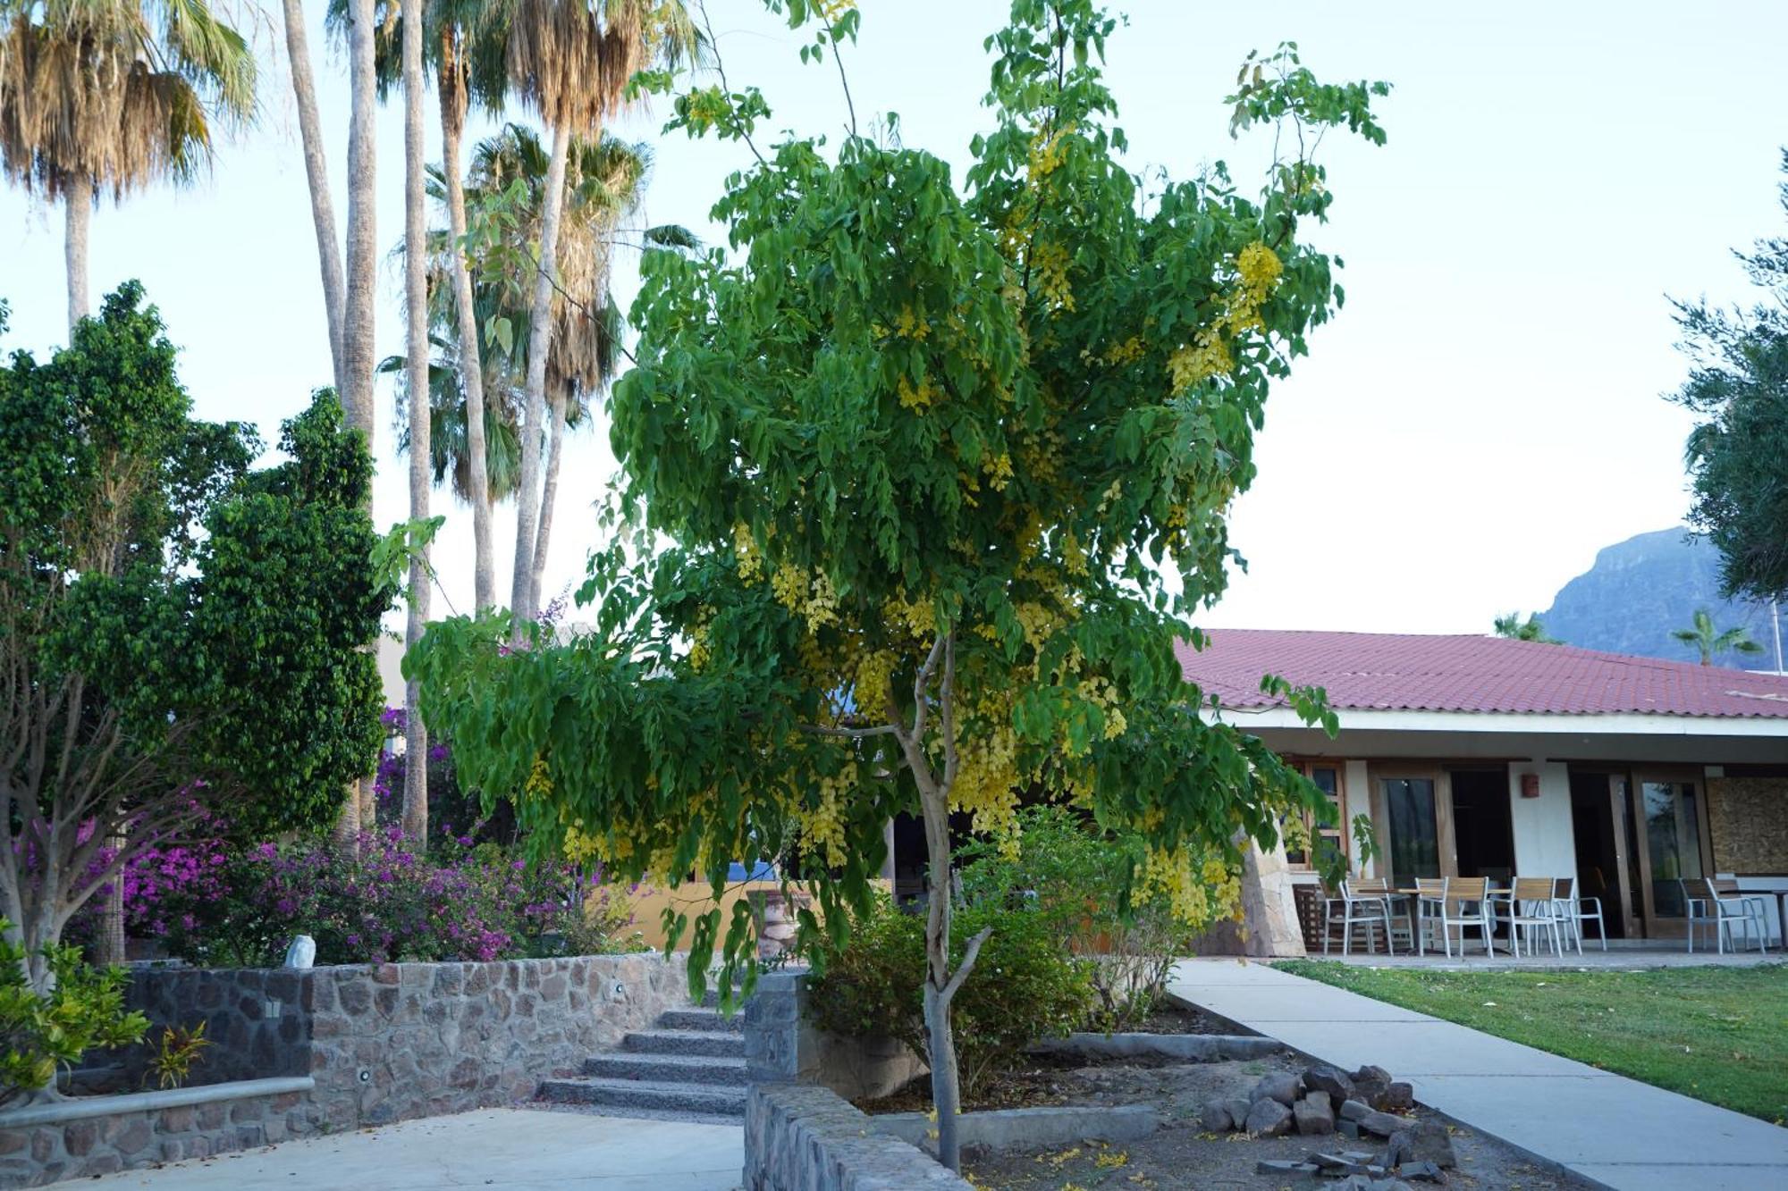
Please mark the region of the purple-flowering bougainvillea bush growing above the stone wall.
<svg viewBox="0 0 1788 1191"><path fill-rule="evenodd" d="M211 887L163 903L172 955L195 964L277 964L293 935L318 964L495 960L635 950L626 896L599 871L529 864L510 849L449 839L433 857L395 830L358 848L257 844Z"/></svg>

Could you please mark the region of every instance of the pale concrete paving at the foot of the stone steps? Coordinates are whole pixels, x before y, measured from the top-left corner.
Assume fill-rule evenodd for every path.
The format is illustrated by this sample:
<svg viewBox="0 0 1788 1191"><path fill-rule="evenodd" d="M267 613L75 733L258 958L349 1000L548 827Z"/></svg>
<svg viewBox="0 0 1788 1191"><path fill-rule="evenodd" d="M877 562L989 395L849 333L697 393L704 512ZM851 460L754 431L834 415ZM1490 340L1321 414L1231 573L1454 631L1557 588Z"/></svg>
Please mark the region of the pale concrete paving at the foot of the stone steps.
<svg viewBox="0 0 1788 1191"><path fill-rule="evenodd" d="M744 1128L737 1125L485 1109L125 1171L82 1186L159 1191L731 1191L738 1187L744 1164Z"/></svg>

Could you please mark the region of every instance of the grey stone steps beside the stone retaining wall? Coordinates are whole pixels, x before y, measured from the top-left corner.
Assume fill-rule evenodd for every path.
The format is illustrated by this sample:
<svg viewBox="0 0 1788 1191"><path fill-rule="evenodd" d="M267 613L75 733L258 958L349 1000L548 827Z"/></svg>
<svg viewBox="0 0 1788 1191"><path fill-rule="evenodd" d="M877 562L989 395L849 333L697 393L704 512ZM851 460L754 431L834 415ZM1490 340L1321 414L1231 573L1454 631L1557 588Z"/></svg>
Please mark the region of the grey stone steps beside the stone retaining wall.
<svg viewBox="0 0 1788 1191"><path fill-rule="evenodd" d="M592 1055L583 1075L540 1084L554 1107L599 1116L663 1118L737 1125L746 1118L746 1016L710 1007L672 1009L651 1030Z"/></svg>

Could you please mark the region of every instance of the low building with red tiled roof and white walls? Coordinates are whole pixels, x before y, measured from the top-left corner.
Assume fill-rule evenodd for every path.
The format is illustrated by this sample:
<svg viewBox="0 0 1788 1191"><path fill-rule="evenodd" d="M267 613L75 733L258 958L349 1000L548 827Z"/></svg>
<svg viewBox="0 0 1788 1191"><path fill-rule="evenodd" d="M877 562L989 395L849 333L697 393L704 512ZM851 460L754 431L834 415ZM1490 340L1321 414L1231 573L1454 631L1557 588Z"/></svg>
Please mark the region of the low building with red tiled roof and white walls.
<svg viewBox="0 0 1788 1191"><path fill-rule="evenodd" d="M1355 873L1575 876L1627 939L1683 937L1677 878L1788 889L1788 678L1498 637L1209 637L1180 647L1187 680L1336 799L1341 826L1314 846ZM1264 696L1262 674L1325 688L1339 735ZM1355 815L1373 862L1354 855Z"/></svg>

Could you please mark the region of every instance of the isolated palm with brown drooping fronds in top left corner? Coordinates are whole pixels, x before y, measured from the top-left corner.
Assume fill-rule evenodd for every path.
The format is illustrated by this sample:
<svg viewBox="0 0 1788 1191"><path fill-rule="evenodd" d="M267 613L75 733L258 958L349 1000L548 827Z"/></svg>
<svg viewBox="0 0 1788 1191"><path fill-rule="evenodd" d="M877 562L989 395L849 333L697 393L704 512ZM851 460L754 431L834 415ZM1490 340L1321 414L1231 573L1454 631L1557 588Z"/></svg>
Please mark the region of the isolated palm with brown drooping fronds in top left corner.
<svg viewBox="0 0 1788 1191"><path fill-rule="evenodd" d="M211 161L254 116L254 52L206 0L0 0L0 172L66 211L68 325L88 313L88 222Z"/></svg>

